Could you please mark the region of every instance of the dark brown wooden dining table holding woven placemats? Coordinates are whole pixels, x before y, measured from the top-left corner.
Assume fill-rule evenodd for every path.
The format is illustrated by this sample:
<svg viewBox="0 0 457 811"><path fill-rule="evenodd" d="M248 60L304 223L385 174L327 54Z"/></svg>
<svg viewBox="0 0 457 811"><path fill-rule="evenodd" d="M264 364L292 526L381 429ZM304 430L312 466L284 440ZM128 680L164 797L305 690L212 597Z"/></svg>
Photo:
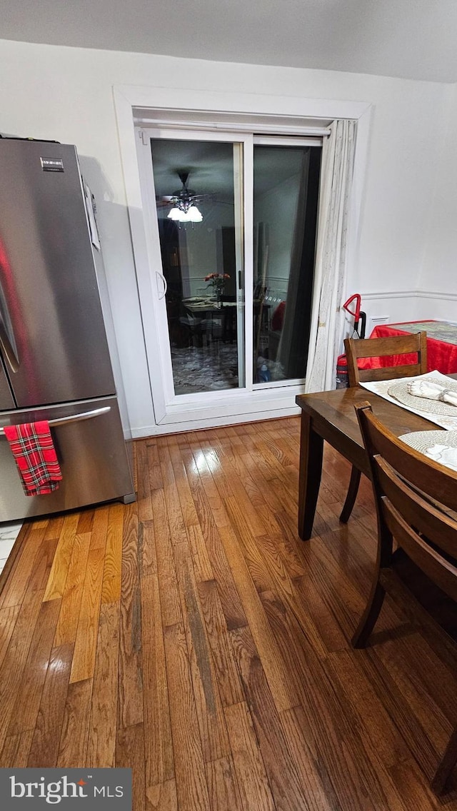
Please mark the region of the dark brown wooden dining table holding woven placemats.
<svg viewBox="0 0 457 811"><path fill-rule="evenodd" d="M449 375L457 378L457 375ZM299 525L304 541L313 534L317 496L321 484L324 440L351 465L369 476L369 463L356 418L355 405L369 402L373 413L396 436L410 431L437 430L439 426L378 397L367 388L338 388L336 391L300 394L295 398L301 409Z"/></svg>

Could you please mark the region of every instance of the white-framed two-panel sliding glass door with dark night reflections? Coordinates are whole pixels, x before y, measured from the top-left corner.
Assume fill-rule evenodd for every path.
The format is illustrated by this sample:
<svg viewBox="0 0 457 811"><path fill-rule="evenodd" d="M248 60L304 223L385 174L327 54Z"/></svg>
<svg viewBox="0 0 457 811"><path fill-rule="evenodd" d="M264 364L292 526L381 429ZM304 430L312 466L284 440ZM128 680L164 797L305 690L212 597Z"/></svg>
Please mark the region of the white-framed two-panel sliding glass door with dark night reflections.
<svg viewBox="0 0 457 811"><path fill-rule="evenodd" d="M300 384L320 140L149 130L139 160L161 358L157 421L186 407L222 413L237 396Z"/></svg>

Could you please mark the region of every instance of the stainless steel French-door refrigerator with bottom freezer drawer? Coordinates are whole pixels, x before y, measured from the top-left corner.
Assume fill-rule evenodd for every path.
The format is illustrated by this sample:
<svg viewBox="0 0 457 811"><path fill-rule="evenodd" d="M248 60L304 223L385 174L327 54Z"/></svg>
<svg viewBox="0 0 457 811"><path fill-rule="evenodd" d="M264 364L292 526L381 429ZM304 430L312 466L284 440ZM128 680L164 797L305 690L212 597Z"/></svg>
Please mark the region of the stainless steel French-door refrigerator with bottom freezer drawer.
<svg viewBox="0 0 457 811"><path fill-rule="evenodd" d="M37 419L63 480L26 496L0 431L0 521L135 499L75 147L0 139L0 428Z"/></svg>

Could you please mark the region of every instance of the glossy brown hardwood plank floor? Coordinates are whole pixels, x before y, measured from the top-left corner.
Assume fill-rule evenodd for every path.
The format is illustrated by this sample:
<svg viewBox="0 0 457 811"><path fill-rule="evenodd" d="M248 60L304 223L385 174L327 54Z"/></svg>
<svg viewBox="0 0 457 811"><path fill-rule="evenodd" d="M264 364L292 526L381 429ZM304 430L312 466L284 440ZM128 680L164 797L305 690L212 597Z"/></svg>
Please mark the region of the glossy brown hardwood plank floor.
<svg viewBox="0 0 457 811"><path fill-rule="evenodd" d="M0 766L131 766L135 811L457 809L428 779L454 643L395 586L352 650L375 520L299 418L136 443L138 501L32 521L0 594Z"/></svg>

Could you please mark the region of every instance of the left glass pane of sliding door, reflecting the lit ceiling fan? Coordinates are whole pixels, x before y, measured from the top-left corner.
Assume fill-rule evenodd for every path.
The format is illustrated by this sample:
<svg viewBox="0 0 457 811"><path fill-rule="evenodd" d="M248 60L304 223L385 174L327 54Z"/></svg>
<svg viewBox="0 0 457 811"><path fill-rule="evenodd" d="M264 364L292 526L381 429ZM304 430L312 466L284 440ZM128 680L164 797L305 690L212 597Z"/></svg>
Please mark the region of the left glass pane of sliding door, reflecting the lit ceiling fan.
<svg viewBox="0 0 457 811"><path fill-rule="evenodd" d="M243 388L241 144L150 144L175 395Z"/></svg>

